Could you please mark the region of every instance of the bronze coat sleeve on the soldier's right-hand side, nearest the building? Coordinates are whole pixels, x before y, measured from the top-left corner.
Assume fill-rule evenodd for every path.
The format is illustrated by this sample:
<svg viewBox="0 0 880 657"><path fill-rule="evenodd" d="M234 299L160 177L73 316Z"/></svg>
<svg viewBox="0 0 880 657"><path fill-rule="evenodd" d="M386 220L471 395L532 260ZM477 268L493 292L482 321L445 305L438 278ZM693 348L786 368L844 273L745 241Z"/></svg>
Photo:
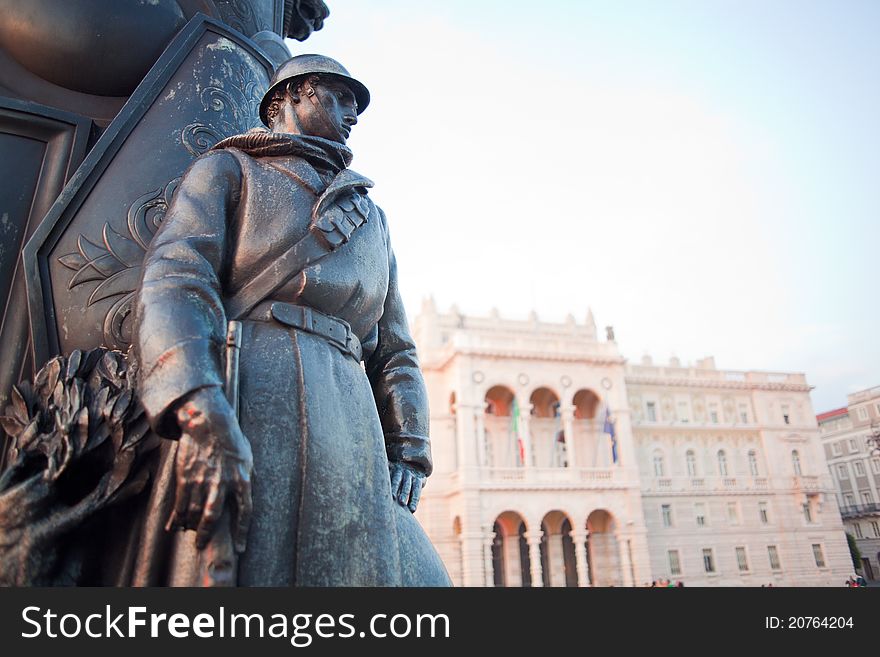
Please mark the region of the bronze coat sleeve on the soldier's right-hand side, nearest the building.
<svg viewBox="0 0 880 657"><path fill-rule="evenodd" d="M382 421L388 460L412 465L427 476L433 469L428 439L428 393L400 298L397 262L381 209L379 215L388 247L389 281L378 324L377 346L366 363L366 371Z"/></svg>

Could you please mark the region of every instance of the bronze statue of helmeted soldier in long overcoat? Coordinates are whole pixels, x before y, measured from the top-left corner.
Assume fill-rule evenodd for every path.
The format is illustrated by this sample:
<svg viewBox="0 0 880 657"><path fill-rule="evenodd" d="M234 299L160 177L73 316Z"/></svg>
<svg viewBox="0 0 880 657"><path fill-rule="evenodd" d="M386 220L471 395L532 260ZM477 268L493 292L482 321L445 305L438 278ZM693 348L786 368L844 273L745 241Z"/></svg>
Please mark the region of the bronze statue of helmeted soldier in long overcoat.
<svg viewBox="0 0 880 657"><path fill-rule="evenodd" d="M369 101L335 60L288 60L260 106L268 129L196 160L150 244L138 394L170 448L143 535L186 531L142 541L134 583L198 583L225 514L239 585L450 583L412 515L428 406L388 222L348 168Z"/></svg>

